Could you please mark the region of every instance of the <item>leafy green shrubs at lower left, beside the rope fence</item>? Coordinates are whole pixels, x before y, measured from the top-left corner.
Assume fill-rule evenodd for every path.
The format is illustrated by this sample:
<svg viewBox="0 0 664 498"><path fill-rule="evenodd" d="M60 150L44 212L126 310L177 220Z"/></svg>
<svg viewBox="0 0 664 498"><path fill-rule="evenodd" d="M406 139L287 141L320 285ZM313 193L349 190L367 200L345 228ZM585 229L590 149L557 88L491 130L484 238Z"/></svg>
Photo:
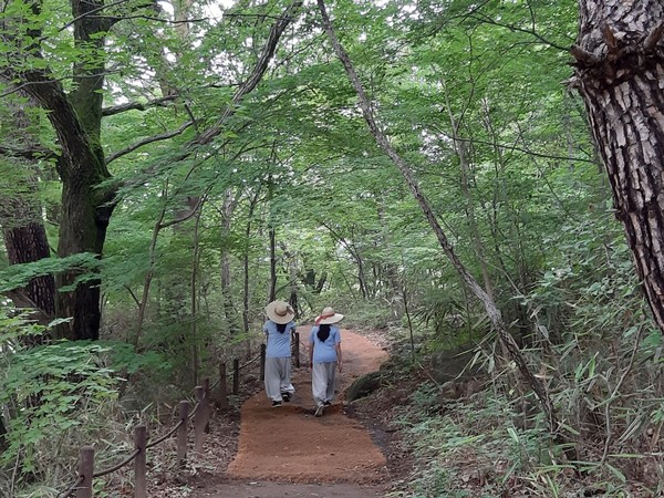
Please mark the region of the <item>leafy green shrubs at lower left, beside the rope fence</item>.
<svg viewBox="0 0 664 498"><path fill-rule="evenodd" d="M0 466L15 468L18 480L44 478L53 465L68 465L74 442L85 434L94 440L116 406L120 373L146 375L168 366L158 354L136 354L124 343L23 345L44 332L23 314L3 309L0 315L0 405L9 415Z"/></svg>

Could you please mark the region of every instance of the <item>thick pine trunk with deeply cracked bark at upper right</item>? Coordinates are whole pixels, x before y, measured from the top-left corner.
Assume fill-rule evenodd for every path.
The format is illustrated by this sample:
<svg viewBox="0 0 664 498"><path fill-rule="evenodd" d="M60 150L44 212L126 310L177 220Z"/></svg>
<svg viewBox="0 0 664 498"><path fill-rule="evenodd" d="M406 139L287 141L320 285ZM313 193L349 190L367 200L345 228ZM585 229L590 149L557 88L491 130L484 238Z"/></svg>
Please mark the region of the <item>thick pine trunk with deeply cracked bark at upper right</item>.
<svg viewBox="0 0 664 498"><path fill-rule="evenodd" d="M585 102L643 289L664 332L664 3L579 2L571 85Z"/></svg>

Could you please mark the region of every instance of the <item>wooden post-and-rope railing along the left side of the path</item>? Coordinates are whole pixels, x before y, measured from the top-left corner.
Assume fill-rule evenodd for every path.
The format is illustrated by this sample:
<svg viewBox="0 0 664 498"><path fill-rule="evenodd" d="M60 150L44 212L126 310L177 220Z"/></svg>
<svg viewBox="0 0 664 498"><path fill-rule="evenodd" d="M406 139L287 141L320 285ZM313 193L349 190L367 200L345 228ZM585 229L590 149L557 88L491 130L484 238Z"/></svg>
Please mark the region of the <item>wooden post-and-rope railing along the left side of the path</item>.
<svg viewBox="0 0 664 498"><path fill-rule="evenodd" d="M94 448L83 446L80 449L79 471L76 479L69 487L58 495L58 498L92 498L92 481L94 478L103 477L115 473L121 468L134 461L134 498L147 498L147 449L153 448L177 433L176 442L176 461L178 466L184 466L187 458L188 445L188 422L194 422L194 450L203 450L204 433L209 429L210 419L210 392L219 386L217 404L220 409L228 409L227 382L229 377L234 380L234 394L239 394L239 374L240 371L252 365L260 360L261 381L264 378L264 344L261 344L260 354L247 361L240 366L238 360L234 360L234 369L226 372L226 363L219 364L219 377L210 385L209 378L203 378L201 385L194 388L196 404L189 411L190 402L184 400L179 404L179 419L174 427L163 434L155 440L149 440L147 427L143 424L134 428L134 450L125 457L124 460L103 470L94 471ZM75 495L74 495L75 494Z"/></svg>

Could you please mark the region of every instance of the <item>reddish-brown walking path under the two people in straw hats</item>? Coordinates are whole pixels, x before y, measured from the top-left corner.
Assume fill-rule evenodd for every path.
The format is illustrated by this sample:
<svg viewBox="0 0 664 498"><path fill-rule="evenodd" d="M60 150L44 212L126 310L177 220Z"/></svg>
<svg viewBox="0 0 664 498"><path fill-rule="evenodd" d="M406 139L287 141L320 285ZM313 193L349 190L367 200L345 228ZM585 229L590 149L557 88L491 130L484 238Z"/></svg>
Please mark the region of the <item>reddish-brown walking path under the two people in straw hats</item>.
<svg viewBox="0 0 664 498"><path fill-rule="evenodd" d="M308 343L309 326L298 328ZM384 496L386 461L369 430L347 417L343 392L359 376L377 370L387 353L366 338L342 330L343 373L334 404L313 416L311 371L293 370L295 395L273 408L263 391L241 407L238 452L222 483L194 498ZM303 354L303 353L301 353ZM302 355L302 362L308 361Z"/></svg>

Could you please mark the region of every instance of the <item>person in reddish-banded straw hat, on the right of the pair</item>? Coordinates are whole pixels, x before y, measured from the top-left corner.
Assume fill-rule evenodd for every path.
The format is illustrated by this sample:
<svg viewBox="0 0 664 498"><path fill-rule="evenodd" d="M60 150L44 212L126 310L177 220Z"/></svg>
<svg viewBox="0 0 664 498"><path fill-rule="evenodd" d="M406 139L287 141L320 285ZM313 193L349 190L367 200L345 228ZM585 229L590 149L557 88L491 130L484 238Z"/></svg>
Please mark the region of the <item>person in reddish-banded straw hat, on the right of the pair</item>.
<svg viewBox="0 0 664 498"><path fill-rule="evenodd" d="M325 406L334 400L336 370L341 372L341 332L334 326L343 319L328 307L315 319L309 335L309 363L311 365L311 393L315 403L315 416L323 415Z"/></svg>

